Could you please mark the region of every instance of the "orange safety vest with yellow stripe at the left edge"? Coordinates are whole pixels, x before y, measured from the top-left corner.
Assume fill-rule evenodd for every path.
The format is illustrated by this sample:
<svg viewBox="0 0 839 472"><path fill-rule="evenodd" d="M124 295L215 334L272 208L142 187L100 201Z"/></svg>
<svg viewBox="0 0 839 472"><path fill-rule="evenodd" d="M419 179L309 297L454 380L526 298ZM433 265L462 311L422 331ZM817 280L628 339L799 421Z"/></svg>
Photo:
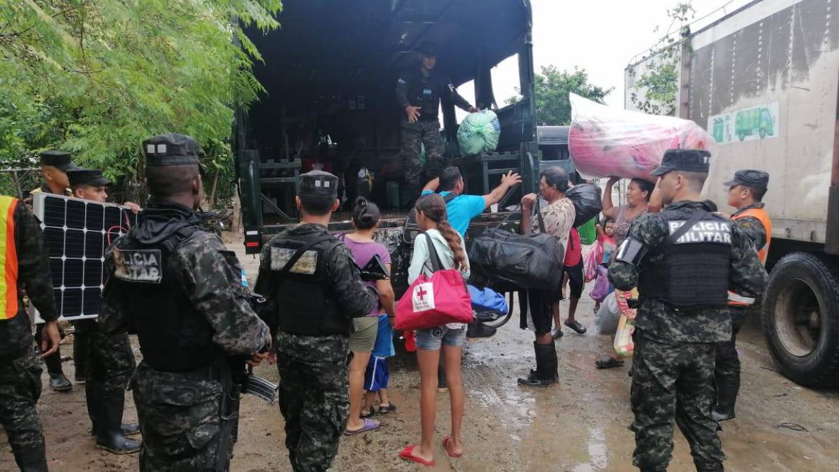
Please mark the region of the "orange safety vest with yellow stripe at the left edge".
<svg viewBox="0 0 839 472"><path fill-rule="evenodd" d="M14 244L14 209L18 199L0 196L0 320L18 314L18 248Z"/></svg>

